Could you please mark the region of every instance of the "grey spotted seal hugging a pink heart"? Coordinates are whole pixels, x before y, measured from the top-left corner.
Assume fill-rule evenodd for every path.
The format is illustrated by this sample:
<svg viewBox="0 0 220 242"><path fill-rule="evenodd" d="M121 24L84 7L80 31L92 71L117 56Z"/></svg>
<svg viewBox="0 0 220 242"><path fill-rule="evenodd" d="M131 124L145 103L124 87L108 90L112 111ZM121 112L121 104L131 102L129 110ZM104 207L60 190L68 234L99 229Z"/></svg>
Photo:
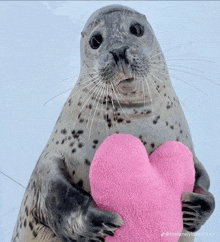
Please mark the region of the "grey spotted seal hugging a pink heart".
<svg viewBox="0 0 220 242"><path fill-rule="evenodd" d="M193 152L196 182L182 197L183 232L197 231L215 200L146 17L110 5L91 15L81 35L78 81L30 177L12 241L105 241L114 235L122 218L96 208L89 184L94 153L113 133L138 137L148 154L167 140Z"/></svg>

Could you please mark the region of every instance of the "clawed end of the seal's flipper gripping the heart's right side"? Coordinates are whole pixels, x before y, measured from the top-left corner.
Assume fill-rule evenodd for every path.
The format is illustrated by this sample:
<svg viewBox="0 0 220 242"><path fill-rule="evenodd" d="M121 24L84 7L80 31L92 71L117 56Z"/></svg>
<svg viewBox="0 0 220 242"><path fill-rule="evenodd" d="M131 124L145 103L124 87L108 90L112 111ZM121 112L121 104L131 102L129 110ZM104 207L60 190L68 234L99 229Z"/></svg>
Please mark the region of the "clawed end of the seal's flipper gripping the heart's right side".
<svg viewBox="0 0 220 242"><path fill-rule="evenodd" d="M203 194L184 193L182 196L183 226L189 232L198 231L215 209L213 195L203 189Z"/></svg>

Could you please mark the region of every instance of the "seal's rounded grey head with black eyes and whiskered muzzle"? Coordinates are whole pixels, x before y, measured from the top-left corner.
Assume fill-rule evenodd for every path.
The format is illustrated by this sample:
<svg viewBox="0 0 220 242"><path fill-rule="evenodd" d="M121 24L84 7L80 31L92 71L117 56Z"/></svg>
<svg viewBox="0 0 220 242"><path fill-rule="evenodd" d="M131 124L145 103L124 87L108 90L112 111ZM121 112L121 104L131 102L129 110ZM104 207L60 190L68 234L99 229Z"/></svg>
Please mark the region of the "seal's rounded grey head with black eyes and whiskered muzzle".
<svg viewBox="0 0 220 242"><path fill-rule="evenodd" d="M167 69L144 15L110 5L91 15L81 35L81 71L84 76L90 75L95 85L111 90L113 101L151 102L152 96L158 95L159 76L155 72L166 75ZM155 69L153 62L161 70Z"/></svg>

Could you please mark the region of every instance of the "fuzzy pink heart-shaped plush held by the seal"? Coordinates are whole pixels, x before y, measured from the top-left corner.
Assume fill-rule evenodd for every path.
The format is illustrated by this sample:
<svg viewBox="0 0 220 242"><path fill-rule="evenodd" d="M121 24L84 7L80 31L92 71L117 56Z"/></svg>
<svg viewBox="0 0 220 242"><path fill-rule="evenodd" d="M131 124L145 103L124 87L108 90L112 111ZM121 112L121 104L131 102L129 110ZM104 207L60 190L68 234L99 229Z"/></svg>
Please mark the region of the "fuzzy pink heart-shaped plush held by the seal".
<svg viewBox="0 0 220 242"><path fill-rule="evenodd" d="M192 153L182 143L168 141L148 157L136 137L109 136L90 169L97 206L117 212L124 220L106 241L178 241L183 229L181 196L193 191L194 182Z"/></svg>

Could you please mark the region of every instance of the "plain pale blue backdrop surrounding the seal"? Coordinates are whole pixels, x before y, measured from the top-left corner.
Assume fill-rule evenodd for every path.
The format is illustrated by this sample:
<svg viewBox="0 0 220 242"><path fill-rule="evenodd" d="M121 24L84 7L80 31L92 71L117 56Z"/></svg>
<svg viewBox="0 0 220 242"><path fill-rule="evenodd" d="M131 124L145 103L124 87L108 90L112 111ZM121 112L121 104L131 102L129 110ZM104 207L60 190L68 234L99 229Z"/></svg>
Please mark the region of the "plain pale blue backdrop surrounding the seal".
<svg viewBox="0 0 220 242"><path fill-rule="evenodd" d="M0 2L0 171L24 187L70 91L59 94L77 80L80 32L96 9L112 3ZM146 15L164 51L216 197L216 210L195 241L218 242L220 2L117 3ZM11 239L23 194L0 173L1 242Z"/></svg>

